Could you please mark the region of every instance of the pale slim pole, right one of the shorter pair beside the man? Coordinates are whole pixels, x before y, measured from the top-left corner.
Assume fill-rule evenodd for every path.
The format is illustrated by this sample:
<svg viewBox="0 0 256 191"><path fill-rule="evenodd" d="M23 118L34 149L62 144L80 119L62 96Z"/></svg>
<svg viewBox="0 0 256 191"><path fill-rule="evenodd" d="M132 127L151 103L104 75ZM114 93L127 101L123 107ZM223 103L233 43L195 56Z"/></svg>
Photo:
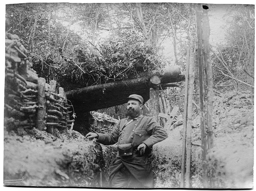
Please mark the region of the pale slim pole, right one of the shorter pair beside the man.
<svg viewBox="0 0 256 191"><path fill-rule="evenodd" d="M191 129L192 129L192 106L193 106L193 83L194 83L194 76L193 76L193 64L194 58L192 52L188 48L188 55L189 57L189 88L188 88L188 109L187 109L187 136L186 136L186 175L185 175L185 187L190 188L190 167L191 167Z"/></svg>

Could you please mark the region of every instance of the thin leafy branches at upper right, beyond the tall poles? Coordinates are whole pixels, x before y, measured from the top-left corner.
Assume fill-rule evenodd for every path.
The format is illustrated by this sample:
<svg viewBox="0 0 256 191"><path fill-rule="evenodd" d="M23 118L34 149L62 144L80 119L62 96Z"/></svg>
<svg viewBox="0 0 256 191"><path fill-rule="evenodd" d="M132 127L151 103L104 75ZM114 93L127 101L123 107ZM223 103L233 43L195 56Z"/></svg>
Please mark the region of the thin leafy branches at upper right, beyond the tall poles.
<svg viewBox="0 0 256 191"><path fill-rule="evenodd" d="M231 78L228 76L253 84L255 30L252 27L255 26L251 21L255 17L254 6L234 5L231 11L232 17L227 20L226 43L219 45L212 54L213 80L219 90L229 87L226 81ZM244 86L237 83L230 84L231 88Z"/></svg>

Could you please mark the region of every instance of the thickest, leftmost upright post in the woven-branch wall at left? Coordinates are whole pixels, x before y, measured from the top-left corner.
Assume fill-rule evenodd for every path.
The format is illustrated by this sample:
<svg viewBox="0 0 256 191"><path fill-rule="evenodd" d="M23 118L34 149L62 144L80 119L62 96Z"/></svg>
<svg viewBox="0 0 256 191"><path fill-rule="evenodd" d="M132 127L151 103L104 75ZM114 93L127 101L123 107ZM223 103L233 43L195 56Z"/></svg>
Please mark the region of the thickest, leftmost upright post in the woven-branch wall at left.
<svg viewBox="0 0 256 191"><path fill-rule="evenodd" d="M36 127L39 130L44 130L44 118L45 118L45 111L46 111L46 104L45 104L45 79L39 77L37 80L37 121Z"/></svg>

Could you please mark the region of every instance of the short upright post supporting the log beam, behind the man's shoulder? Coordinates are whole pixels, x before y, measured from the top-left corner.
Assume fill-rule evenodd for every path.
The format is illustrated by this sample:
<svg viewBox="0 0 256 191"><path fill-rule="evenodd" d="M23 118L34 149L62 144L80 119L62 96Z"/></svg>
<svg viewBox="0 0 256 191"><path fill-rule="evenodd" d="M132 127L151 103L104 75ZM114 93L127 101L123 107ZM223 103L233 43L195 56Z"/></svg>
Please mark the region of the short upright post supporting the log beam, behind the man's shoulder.
<svg viewBox="0 0 256 191"><path fill-rule="evenodd" d="M153 117L157 122L158 120L158 114L159 114L159 92L158 87L153 89L150 88L150 116Z"/></svg>

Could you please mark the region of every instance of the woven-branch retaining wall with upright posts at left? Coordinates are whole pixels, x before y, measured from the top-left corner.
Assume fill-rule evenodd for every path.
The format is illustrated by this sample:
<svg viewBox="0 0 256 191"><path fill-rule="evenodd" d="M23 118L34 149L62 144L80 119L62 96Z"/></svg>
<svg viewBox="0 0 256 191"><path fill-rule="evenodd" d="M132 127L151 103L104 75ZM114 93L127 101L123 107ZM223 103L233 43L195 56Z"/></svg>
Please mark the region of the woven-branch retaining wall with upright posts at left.
<svg viewBox="0 0 256 191"><path fill-rule="evenodd" d="M63 88L56 92L56 81L45 83L32 69L31 58L17 35L5 34L4 122L8 129L18 127L46 130L72 127L72 107L67 104ZM74 125L74 123L73 123Z"/></svg>

